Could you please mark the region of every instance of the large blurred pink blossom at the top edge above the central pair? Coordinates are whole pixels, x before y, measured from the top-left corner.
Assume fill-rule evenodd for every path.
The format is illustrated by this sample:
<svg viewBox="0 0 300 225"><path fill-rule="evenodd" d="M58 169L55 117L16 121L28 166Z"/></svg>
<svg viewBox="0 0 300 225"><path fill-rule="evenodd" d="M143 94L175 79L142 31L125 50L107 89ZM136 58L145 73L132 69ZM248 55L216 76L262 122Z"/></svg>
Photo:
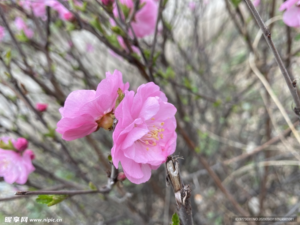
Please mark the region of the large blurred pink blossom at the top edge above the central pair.
<svg viewBox="0 0 300 225"><path fill-rule="evenodd" d="M120 0L119 2L126 5L130 9L130 13L132 13L132 9L134 8L132 0ZM158 4L154 0L141 0L140 5L142 8L135 13L131 26L135 35L138 38L143 38L153 34L155 31ZM114 6L113 13L116 17L119 17L116 6Z"/></svg>

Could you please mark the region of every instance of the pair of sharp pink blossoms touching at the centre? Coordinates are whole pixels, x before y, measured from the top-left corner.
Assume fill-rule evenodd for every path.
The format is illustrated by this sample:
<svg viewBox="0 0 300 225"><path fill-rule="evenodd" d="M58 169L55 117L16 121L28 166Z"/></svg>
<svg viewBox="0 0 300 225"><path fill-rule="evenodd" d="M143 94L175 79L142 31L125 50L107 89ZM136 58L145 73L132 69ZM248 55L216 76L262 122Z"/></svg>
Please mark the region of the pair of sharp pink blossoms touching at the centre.
<svg viewBox="0 0 300 225"><path fill-rule="evenodd" d="M113 132L111 150L116 168L121 162L125 176L140 184L150 179L176 149L176 108L153 82L128 91L122 73L106 73L96 91L73 91L60 109L62 119L57 131L65 140L74 140L97 131L110 130L113 117L118 123ZM123 99L120 100L120 97ZM116 101L121 101L115 108Z"/></svg>

